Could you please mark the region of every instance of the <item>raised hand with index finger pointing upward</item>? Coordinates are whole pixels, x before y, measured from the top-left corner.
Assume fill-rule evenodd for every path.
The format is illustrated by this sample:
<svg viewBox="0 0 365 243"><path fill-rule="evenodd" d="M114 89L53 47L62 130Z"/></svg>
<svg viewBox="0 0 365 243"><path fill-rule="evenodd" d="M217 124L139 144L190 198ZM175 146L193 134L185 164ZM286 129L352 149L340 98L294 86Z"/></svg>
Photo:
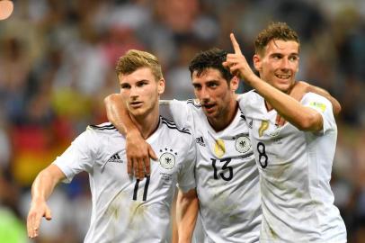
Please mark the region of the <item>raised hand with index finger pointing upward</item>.
<svg viewBox="0 0 365 243"><path fill-rule="evenodd" d="M242 54L242 51L239 47L239 44L235 38L235 35L231 33L229 35L233 49L235 50L234 54L227 54L227 59L222 63L224 67L229 68L231 74L238 76L241 79L245 79L247 81L249 76L254 75L253 70L248 65L245 56Z"/></svg>

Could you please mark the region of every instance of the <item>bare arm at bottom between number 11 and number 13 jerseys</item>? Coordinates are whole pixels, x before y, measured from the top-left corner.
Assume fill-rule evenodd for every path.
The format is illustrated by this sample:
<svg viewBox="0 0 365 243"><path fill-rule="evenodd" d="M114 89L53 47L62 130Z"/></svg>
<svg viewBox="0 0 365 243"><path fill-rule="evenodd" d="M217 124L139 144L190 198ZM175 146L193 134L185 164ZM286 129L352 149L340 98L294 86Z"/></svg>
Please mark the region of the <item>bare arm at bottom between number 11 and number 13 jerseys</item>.
<svg viewBox="0 0 365 243"><path fill-rule="evenodd" d="M179 243L191 242L198 211L199 201L196 189L191 189L187 193L182 193L179 190L176 199L176 224Z"/></svg>

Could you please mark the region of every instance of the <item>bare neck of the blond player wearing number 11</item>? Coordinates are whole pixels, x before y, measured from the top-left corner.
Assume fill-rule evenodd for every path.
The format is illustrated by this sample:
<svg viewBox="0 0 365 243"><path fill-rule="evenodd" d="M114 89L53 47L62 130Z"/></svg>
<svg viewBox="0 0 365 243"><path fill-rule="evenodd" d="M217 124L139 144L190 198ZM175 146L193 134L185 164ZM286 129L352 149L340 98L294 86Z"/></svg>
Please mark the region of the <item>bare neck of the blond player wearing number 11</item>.
<svg viewBox="0 0 365 243"><path fill-rule="evenodd" d="M147 139L151 136L158 127L159 122L159 110L158 105L154 107L153 110L140 115L140 116L133 116L130 115L132 121L136 124L138 130L140 131L142 137Z"/></svg>

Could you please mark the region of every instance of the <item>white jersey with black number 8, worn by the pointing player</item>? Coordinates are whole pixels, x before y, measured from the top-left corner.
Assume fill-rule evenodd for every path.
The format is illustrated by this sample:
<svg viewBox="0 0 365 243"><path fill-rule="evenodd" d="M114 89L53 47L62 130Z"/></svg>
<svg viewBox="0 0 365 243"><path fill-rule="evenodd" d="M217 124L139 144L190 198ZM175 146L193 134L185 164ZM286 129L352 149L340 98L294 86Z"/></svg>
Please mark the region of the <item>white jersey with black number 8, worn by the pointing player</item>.
<svg viewBox="0 0 365 243"><path fill-rule="evenodd" d="M330 186L337 137L332 104L317 94L304 95L301 103L323 117L323 130L311 132L290 123L276 126L277 112L267 112L263 97L254 91L243 94L239 103L260 170L260 242L346 242Z"/></svg>

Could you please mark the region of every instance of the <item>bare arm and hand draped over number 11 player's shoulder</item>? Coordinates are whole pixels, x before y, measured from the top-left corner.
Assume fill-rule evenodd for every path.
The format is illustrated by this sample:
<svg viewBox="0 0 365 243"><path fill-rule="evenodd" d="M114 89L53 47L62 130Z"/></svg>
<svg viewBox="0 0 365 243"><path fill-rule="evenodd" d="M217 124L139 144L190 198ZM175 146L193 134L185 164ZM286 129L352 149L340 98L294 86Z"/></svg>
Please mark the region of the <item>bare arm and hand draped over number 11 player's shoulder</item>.
<svg viewBox="0 0 365 243"><path fill-rule="evenodd" d="M156 159L156 154L131 120L120 94L110 94L104 103L108 120L126 136L128 174L142 180L150 173L149 158Z"/></svg>

